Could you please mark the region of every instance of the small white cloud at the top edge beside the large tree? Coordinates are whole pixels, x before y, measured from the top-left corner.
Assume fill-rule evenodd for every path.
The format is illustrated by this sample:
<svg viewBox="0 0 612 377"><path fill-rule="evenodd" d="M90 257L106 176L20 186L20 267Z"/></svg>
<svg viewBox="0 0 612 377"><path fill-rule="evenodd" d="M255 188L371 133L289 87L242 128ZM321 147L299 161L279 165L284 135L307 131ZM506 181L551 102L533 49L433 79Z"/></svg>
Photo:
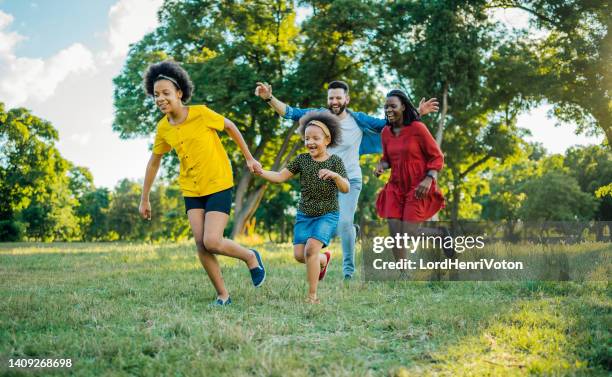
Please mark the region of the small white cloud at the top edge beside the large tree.
<svg viewBox="0 0 612 377"><path fill-rule="evenodd" d="M157 27L157 11L163 0L120 0L108 13L109 58L123 57L131 43Z"/></svg>

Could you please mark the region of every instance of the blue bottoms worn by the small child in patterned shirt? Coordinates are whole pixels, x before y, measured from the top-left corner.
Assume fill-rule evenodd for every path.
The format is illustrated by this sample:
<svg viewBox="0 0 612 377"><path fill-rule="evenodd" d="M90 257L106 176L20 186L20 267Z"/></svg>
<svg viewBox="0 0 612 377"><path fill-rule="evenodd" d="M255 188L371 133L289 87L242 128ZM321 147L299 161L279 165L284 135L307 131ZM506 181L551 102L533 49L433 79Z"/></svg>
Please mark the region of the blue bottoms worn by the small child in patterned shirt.
<svg viewBox="0 0 612 377"><path fill-rule="evenodd" d="M306 216L298 211L293 227L293 244L306 244L309 238L314 238L329 245L329 241L336 233L338 226L338 212L329 212L321 216Z"/></svg>

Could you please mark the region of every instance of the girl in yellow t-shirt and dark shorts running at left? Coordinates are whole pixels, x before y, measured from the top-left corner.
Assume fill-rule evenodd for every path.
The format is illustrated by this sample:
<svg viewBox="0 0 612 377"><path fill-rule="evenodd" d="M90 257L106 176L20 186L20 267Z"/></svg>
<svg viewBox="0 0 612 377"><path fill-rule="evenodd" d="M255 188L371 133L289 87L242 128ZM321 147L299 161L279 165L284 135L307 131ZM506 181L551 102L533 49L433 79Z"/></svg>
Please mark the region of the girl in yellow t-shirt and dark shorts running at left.
<svg viewBox="0 0 612 377"><path fill-rule="evenodd" d="M191 98L193 84L178 63L163 61L151 65L145 74L144 86L164 117L157 124L153 153L147 164L140 214L151 219L151 186L162 155L174 149L180 160L179 185L198 257L217 291L213 304L228 305L231 298L215 254L244 261L256 287L263 284L266 271L256 250L223 237L232 206L234 180L229 158L217 133L227 132L240 147L251 173L261 173L261 164L253 158L231 120L204 105L185 106Z"/></svg>

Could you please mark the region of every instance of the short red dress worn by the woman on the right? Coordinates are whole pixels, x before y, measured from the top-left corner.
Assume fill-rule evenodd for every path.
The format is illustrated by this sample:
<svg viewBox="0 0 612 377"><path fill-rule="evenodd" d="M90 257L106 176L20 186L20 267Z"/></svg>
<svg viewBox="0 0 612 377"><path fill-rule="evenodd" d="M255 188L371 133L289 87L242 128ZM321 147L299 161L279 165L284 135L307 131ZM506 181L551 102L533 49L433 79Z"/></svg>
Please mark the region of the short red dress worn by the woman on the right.
<svg viewBox="0 0 612 377"><path fill-rule="evenodd" d="M444 208L444 197L436 182L421 199L415 197L419 183L429 170L440 170L444 155L425 124L414 121L394 135L390 126L382 131L383 160L391 167L391 178L378 194L376 213L385 219L420 222Z"/></svg>

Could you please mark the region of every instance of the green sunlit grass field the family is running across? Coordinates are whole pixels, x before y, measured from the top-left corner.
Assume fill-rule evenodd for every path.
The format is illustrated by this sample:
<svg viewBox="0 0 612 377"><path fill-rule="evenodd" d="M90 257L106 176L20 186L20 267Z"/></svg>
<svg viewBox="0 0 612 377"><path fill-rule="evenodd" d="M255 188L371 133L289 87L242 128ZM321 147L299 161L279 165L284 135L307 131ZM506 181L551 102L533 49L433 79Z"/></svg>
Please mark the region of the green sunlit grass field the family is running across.
<svg viewBox="0 0 612 377"><path fill-rule="evenodd" d="M335 247L320 305L290 245L262 245L252 287L221 258L215 297L191 243L0 244L0 374L9 358L71 358L39 374L172 376L601 375L606 283L344 283Z"/></svg>

